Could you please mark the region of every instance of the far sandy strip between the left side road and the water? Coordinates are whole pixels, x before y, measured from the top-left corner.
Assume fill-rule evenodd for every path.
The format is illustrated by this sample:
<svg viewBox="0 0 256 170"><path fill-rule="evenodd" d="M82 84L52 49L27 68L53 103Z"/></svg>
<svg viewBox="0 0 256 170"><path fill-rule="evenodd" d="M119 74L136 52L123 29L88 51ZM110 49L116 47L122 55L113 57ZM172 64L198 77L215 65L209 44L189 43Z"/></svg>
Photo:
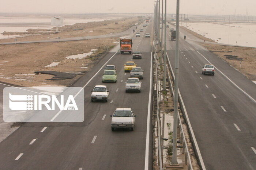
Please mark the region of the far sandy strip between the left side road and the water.
<svg viewBox="0 0 256 170"><path fill-rule="evenodd" d="M115 23L118 24L115 24ZM4 42L15 42L15 39L18 41L33 41L33 40L44 40L44 39L56 39L61 38L70 38L70 37L79 37L79 36L94 36L94 35L105 35L112 34L116 32L122 32L127 30L132 25L139 23L139 18L124 18L124 19L114 19L114 20L105 20L101 22L88 22L88 23L76 23L74 25L66 25L59 27L58 34L53 34L53 32L41 32L42 29L29 29L29 32L9 32L10 35L24 35L20 38L10 38L10 39L0 39L0 43ZM104 25L106 24L106 25ZM54 28L54 27L53 27ZM74 29L83 29L75 30ZM56 28L53 29L54 32ZM46 31L46 29L45 29ZM27 34L40 34L40 35L27 35ZM8 34L5 34L8 35Z"/></svg>

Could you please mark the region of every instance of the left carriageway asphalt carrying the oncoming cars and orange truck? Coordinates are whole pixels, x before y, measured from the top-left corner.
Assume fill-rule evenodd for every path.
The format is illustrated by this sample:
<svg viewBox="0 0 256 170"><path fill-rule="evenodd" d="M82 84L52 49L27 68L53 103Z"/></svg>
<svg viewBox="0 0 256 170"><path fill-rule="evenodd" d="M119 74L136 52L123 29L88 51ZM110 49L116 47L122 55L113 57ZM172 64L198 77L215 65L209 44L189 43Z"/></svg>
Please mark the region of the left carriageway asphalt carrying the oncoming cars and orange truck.
<svg viewBox="0 0 256 170"><path fill-rule="evenodd" d="M72 85L85 86L84 121L23 124L0 143L0 169L152 169L152 39L144 37L145 33L152 34L152 23L143 28L146 31L140 38L132 37L133 51L143 53L142 59L132 60L144 70L141 93L125 93L129 73L124 72L123 65L131 61L132 55L121 55L119 47L114 47ZM102 83L102 67L106 64L117 67L117 83ZM91 103L95 85L108 86L108 103ZM119 107L132 108L137 115L134 131L111 131L109 115Z"/></svg>

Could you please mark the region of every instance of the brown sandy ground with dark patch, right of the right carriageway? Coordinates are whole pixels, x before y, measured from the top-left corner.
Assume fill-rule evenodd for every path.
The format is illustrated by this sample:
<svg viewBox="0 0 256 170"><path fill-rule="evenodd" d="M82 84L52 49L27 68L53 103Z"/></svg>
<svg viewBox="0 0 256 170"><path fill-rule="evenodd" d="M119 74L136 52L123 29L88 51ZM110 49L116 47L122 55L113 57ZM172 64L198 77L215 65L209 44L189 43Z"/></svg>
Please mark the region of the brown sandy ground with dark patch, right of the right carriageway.
<svg viewBox="0 0 256 170"><path fill-rule="evenodd" d="M250 80L256 81L256 48L213 44L203 46L236 68Z"/></svg>

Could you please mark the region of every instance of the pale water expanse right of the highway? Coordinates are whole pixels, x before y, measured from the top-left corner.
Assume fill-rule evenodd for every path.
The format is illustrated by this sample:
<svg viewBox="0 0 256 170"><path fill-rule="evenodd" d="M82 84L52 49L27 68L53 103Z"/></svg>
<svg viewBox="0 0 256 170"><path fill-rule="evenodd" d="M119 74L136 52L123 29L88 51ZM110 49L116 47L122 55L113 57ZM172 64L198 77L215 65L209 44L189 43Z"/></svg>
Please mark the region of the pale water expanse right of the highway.
<svg viewBox="0 0 256 170"><path fill-rule="evenodd" d="M256 47L256 24L190 22L188 29L215 42Z"/></svg>

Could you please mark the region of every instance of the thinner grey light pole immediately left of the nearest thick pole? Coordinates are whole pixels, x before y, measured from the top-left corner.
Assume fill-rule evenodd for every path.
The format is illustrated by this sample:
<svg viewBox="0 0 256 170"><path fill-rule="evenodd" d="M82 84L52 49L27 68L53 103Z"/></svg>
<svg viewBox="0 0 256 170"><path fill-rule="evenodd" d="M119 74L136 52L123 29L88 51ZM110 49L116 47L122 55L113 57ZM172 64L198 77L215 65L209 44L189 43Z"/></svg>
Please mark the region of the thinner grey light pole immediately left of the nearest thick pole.
<svg viewBox="0 0 256 170"><path fill-rule="evenodd" d="M163 20L162 20L162 28L163 28ZM163 31L162 31L162 38L163 38ZM166 90L166 0L165 0L165 49L164 49L164 57L163 57L163 90Z"/></svg>

